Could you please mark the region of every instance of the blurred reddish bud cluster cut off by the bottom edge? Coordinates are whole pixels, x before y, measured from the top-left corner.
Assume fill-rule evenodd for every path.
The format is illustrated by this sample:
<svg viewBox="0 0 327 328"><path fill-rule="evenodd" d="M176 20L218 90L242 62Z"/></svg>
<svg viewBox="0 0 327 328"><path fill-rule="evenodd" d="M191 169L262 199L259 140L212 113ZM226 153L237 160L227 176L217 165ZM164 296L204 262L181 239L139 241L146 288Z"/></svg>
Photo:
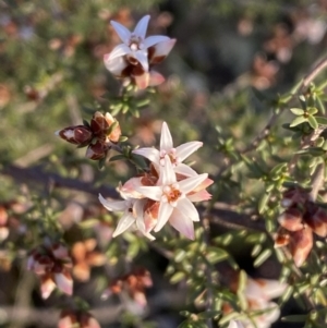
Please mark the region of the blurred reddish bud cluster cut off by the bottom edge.
<svg viewBox="0 0 327 328"><path fill-rule="evenodd" d="M83 311L63 309L60 314L58 328L100 328L99 323Z"/></svg>

